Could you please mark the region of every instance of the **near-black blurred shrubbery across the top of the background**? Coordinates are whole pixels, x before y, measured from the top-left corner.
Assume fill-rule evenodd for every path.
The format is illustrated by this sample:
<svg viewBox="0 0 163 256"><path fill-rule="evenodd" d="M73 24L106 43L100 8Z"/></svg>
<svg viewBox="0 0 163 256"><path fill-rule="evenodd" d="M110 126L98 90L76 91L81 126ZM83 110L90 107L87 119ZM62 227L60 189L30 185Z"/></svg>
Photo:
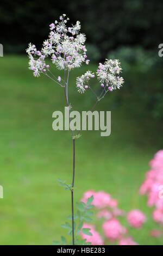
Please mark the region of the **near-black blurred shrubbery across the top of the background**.
<svg viewBox="0 0 163 256"><path fill-rule="evenodd" d="M163 2L153 0L46 0L46 7L39 0L1 0L1 44L5 52L17 53L24 52L30 41L39 47L48 36L49 24L66 13L71 23L82 23L87 43L99 49L98 58L102 60L108 51L120 45L150 49L159 45L163 38L162 11Z"/></svg>

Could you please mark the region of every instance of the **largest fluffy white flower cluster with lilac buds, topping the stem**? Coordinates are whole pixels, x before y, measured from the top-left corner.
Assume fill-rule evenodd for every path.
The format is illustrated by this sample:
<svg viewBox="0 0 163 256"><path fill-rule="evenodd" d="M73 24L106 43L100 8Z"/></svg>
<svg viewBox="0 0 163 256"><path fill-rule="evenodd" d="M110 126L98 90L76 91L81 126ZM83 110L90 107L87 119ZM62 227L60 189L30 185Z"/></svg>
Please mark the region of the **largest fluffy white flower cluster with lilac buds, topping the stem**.
<svg viewBox="0 0 163 256"><path fill-rule="evenodd" d="M83 62L89 64L86 59L86 47L84 42L86 37L79 33L80 22L67 27L66 14L60 16L60 21L55 21L49 25L51 32L49 38L43 42L41 51L37 51L35 45L29 44L26 52L29 55L29 69L34 71L34 76L39 76L42 72L47 72L49 66L45 63L45 58L51 56L52 62L61 69L74 69L82 65Z"/></svg>

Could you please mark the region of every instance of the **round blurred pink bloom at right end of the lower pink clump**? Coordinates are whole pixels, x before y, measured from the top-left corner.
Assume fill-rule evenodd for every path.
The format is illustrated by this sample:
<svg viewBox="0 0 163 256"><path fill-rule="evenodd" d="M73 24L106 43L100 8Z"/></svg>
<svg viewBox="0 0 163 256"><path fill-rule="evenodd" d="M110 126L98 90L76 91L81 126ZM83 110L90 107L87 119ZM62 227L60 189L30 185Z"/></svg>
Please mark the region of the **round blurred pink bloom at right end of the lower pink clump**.
<svg viewBox="0 0 163 256"><path fill-rule="evenodd" d="M140 228L146 222L146 215L139 209L131 210L127 214L127 220L131 227Z"/></svg>

